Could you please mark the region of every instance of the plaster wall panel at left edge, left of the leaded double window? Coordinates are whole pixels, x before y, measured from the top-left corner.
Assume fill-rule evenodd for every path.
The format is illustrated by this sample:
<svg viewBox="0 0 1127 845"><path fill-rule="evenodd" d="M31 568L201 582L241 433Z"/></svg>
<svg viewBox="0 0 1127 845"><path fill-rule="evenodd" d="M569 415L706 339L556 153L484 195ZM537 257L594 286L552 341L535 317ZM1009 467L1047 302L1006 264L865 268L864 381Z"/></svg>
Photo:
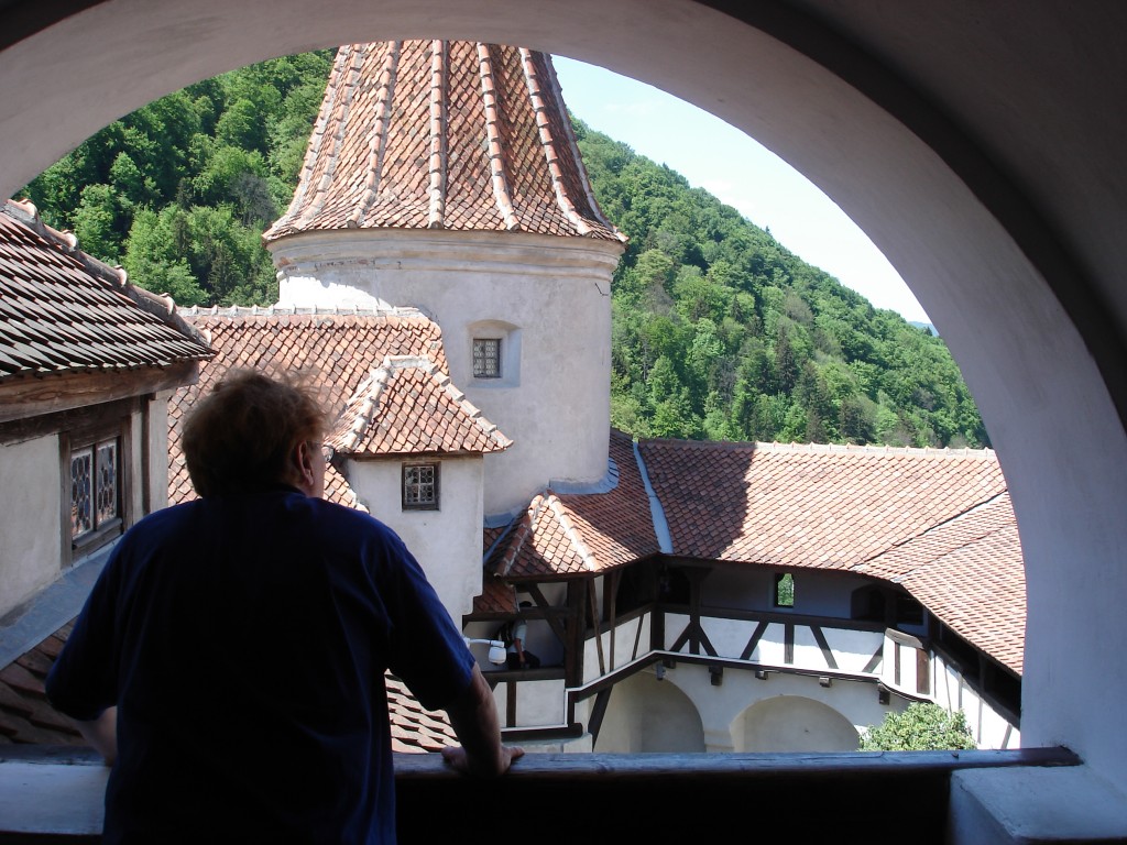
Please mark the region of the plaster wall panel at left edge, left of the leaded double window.
<svg viewBox="0 0 1127 845"><path fill-rule="evenodd" d="M0 446L0 616L59 577L59 437Z"/></svg>

